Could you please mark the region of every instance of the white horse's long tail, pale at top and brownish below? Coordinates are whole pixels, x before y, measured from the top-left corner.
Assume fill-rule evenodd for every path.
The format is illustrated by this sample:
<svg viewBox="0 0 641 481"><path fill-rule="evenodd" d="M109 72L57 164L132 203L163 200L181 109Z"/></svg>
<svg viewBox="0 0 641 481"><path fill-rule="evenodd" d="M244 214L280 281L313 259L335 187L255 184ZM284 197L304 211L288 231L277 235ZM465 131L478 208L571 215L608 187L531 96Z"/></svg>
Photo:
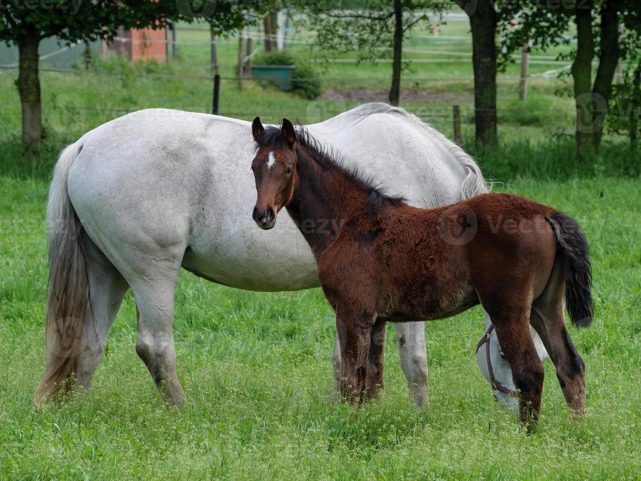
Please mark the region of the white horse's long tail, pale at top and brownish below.
<svg viewBox="0 0 641 481"><path fill-rule="evenodd" d="M35 395L40 405L60 392L71 391L88 303L87 257L80 242L82 224L67 191L67 176L82 144L60 154L49 190L47 244L49 289L46 314L46 371Z"/></svg>

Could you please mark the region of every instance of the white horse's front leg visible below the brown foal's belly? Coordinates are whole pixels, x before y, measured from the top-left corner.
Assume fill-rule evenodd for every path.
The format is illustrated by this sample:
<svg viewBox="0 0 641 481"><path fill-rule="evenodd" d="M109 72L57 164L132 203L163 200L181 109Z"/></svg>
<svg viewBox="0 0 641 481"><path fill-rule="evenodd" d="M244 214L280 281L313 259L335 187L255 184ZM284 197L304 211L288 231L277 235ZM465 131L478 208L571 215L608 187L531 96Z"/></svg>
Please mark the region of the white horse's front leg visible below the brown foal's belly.
<svg viewBox="0 0 641 481"><path fill-rule="evenodd" d="M428 360L425 323L395 323L401 369L417 407L428 403Z"/></svg>

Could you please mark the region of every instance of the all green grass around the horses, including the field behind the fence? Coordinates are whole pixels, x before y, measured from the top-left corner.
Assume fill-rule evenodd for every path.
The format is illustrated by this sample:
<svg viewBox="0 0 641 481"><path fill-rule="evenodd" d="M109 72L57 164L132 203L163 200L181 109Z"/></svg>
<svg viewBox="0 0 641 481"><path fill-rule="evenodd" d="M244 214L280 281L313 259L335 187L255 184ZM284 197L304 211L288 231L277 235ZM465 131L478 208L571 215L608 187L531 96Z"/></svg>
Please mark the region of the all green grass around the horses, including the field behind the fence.
<svg viewBox="0 0 641 481"><path fill-rule="evenodd" d="M442 31L467 35L467 26L450 22ZM179 31L178 39L206 42L208 33ZM429 42L417 38L407 46L471 48L465 41ZM234 39L219 44L224 76L233 74L235 46ZM460 104L467 148L488 178L504 181L495 189L553 205L584 226L596 314L589 329L570 328L587 365L582 419L570 418L550 361L535 434L524 434L515 416L497 407L476 367L474 348L483 332L478 307L426 324L425 409L410 401L391 325L381 400L363 409L328 405L335 329L319 289L246 292L188 273L181 274L174 322L187 408L166 409L138 359L135 305L127 294L92 390L33 409L44 369L49 171L63 145L128 111L210 111L211 82L144 76L208 74L206 46L185 44L179 55L169 66L100 63L99 69L117 72L112 76L43 72L47 139L40 151L19 144L15 72L0 73L0 478L641 479L641 155L608 134L599 156L576 164L570 99L554 96L563 83L551 80L531 81L522 105L517 83L499 81L501 146L476 148L472 117L465 115L472 84L447 80L471 77L470 63L462 62L415 64L406 78L443 80L405 81L403 105L452 135L449 112ZM384 63L318 67L326 78L390 76ZM531 72L551 68L536 65ZM502 78L517 72L512 65ZM328 81L325 87L345 97L337 103L342 109L375 100L388 82L364 89L356 81ZM242 91L234 81L222 83L221 114L231 117L319 121L318 103L327 106L325 97L309 101L249 81Z"/></svg>

